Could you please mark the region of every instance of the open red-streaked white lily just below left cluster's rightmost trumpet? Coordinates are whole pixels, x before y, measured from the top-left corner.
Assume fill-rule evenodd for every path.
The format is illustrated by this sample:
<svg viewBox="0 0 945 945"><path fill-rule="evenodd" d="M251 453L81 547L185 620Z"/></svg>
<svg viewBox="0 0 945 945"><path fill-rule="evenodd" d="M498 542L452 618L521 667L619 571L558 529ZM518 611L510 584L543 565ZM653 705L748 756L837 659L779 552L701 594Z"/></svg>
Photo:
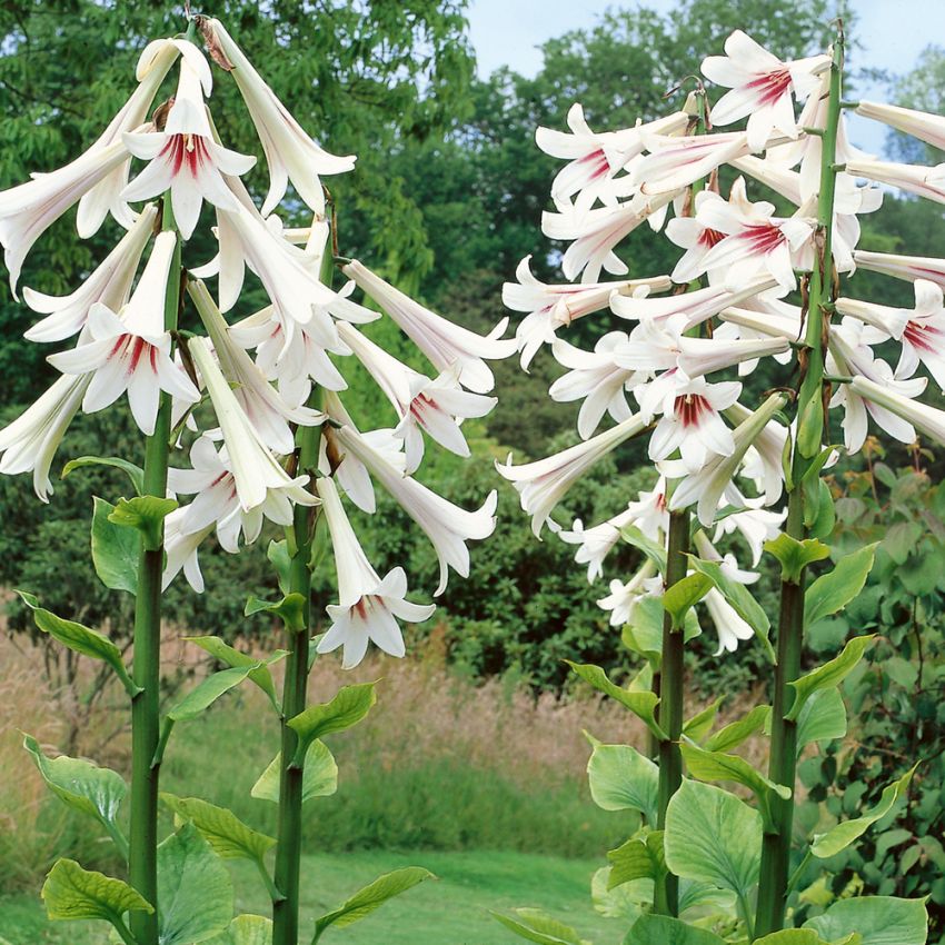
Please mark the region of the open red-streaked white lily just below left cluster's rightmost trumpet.
<svg viewBox="0 0 945 945"><path fill-rule="evenodd" d="M400 422L395 434L404 440L408 474L424 458L421 430L450 452L469 456L459 424L470 417L485 417L498 402L495 397L462 390L457 379L458 365L431 380L388 355L354 326L339 322L338 334L397 411Z"/></svg>

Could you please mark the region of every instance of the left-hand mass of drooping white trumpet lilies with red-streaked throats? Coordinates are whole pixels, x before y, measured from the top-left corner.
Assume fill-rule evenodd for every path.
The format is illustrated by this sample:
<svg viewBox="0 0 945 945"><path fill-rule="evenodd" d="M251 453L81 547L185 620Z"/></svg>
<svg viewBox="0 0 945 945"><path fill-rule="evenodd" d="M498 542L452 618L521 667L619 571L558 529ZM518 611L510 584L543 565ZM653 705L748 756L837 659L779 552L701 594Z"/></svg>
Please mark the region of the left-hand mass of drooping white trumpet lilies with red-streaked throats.
<svg viewBox="0 0 945 945"><path fill-rule="evenodd" d="M495 405L486 360L514 354L500 340L504 325L483 338L412 301L358 261L344 266L339 291L321 281L329 225L320 175L354 168L354 157L322 150L286 110L217 20L199 18L215 61L236 80L262 143L269 191L257 209L240 180L256 158L225 148L206 99L212 90L208 60L195 42L167 39L140 57L138 87L102 136L77 160L0 193L0 243L13 292L30 248L59 217L78 203L79 236L94 233L110 213L126 235L82 285L66 297L23 290L27 305L46 317L27 331L37 342L72 338L71 350L49 357L62 377L19 419L0 430L0 471L32 471L40 499L52 490L50 467L66 428L79 410L93 412L127 392L131 412L152 435L161 392L172 398L173 445L190 445L190 468L171 468L171 496L193 496L166 520L169 583L182 569L203 587L197 550L216 533L230 553L255 541L263 519L292 523L296 505L320 505L338 571L339 603L328 607L331 626L319 649L344 647L354 666L372 639L387 653L404 654L396 618L427 619L432 606L406 600L407 578L395 567L381 578L355 535L339 491L372 513L372 479L382 485L436 548L440 580L448 568L469 571L466 543L495 527L496 495L467 511L411 478L424 454L424 434L460 456L469 448L464 418L481 417ZM179 63L177 90L147 118L159 88ZM132 158L145 162L129 182ZM311 226L284 229L272 211L291 181L312 213ZM175 350L165 308L178 239L160 229L153 203L129 203L166 195L175 225L187 240L203 201L216 211L216 259L191 269L188 294L207 336ZM150 252L136 284L146 249ZM330 260L329 260L330 261ZM237 302L245 269L262 284L270 305L236 325L221 312ZM200 279L216 276L218 298ZM358 325L381 316L349 296L359 287L419 348L436 377L420 374L372 342ZM256 351L253 359L248 354ZM330 356L335 356L334 358ZM337 366L354 356L389 399L398 424L361 431L341 400L347 387ZM312 397L317 387L318 397ZM209 402L215 426L200 430L195 412ZM317 470L297 470L294 428L321 426ZM310 481L310 475L315 481Z"/></svg>

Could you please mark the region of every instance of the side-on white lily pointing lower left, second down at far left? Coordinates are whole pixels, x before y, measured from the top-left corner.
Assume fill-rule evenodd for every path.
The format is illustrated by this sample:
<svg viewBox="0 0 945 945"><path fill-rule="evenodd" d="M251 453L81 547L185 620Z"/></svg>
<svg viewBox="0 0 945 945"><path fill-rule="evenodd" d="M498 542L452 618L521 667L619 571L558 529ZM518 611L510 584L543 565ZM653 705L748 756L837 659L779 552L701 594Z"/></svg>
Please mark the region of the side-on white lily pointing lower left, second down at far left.
<svg viewBox="0 0 945 945"><path fill-rule="evenodd" d="M151 238L158 210L149 203L138 215L137 222L121 238L115 249L68 296L47 296L29 287L23 288L23 300L33 310L47 317L27 329L23 337L30 341L61 341L84 328L89 310L103 305L120 311L128 301L141 253Z"/></svg>

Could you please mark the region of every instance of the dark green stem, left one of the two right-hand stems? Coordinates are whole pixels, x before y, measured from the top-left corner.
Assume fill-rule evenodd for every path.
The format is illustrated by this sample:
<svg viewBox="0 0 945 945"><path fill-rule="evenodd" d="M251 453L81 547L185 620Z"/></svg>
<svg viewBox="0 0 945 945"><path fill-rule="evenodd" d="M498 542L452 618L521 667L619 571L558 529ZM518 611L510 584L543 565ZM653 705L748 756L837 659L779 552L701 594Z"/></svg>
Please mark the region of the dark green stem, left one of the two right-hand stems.
<svg viewBox="0 0 945 945"><path fill-rule="evenodd" d="M689 513L669 515L669 536L666 547L666 587L683 580L688 570ZM663 663L660 665L659 727L668 736L659 743L659 809L657 827L666 826L666 809L673 795L683 784L683 628L673 626L669 613L663 616ZM667 873L657 884L654 908L662 915L679 911L679 879Z"/></svg>

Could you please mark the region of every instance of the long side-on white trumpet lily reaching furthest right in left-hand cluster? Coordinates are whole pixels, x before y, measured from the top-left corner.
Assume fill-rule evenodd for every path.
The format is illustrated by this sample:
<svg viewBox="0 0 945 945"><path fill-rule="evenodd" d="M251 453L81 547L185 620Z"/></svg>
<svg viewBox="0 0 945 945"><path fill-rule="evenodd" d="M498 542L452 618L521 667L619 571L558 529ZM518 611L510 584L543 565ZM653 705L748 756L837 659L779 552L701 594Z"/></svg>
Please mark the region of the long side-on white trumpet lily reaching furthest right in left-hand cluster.
<svg viewBox="0 0 945 945"><path fill-rule="evenodd" d="M484 338L424 308L357 259L342 267L341 271L397 322L438 371L458 364L459 382L467 390L488 394L496 380L486 360L508 358L518 350L515 338L501 339L508 318L504 318Z"/></svg>

